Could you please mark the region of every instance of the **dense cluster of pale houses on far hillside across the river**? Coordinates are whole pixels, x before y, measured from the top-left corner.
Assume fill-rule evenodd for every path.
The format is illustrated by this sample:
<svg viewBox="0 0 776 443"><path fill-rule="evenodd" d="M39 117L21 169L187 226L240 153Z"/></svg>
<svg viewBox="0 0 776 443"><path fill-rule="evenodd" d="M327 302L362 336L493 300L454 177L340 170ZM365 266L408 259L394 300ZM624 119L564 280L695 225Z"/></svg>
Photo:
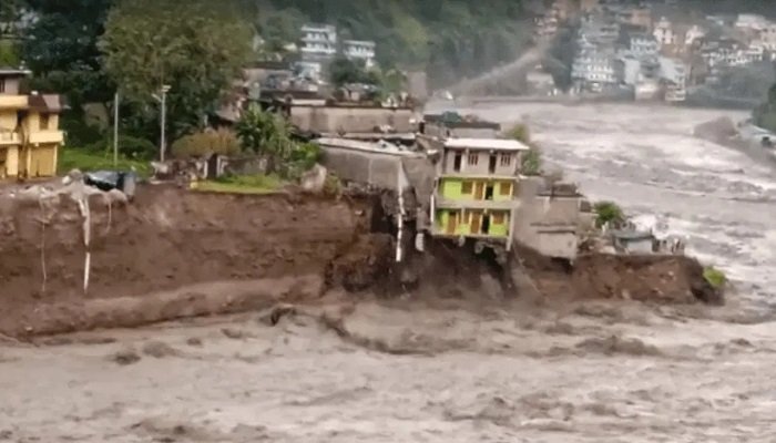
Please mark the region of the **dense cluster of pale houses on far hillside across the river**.
<svg viewBox="0 0 776 443"><path fill-rule="evenodd" d="M539 35L579 20L572 92L630 92L635 100L686 100L732 69L770 62L776 22L762 16L702 16L666 1L557 0Z"/></svg>

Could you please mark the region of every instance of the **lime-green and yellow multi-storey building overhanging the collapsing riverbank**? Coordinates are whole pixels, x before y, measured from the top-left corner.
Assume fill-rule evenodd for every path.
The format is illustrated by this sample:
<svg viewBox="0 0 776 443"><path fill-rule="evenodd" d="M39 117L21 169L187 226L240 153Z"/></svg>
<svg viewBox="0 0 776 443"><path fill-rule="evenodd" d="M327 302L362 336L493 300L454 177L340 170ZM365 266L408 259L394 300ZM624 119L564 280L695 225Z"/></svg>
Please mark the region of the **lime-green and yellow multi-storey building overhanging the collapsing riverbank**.
<svg viewBox="0 0 776 443"><path fill-rule="evenodd" d="M496 241L511 248L521 158L513 140L449 138L437 164L431 234Z"/></svg>

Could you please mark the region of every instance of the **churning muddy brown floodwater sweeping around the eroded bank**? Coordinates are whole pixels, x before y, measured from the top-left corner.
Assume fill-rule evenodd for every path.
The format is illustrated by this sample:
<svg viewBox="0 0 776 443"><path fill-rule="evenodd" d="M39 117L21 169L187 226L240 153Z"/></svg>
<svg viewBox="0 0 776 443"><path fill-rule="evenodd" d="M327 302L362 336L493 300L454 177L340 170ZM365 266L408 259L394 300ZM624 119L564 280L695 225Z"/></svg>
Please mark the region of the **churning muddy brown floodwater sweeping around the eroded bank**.
<svg viewBox="0 0 776 443"><path fill-rule="evenodd" d="M772 442L774 168L692 137L723 111L488 105L595 199L688 238L724 308L331 302L0 344L0 441Z"/></svg>

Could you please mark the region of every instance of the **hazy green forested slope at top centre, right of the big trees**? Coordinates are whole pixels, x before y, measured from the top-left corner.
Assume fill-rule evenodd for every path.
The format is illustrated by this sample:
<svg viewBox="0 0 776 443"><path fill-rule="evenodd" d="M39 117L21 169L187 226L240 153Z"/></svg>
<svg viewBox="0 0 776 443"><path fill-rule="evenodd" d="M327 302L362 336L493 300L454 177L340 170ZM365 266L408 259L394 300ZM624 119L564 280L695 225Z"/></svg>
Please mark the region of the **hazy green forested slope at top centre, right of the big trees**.
<svg viewBox="0 0 776 443"><path fill-rule="evenodd" d="M296 41L304 23L336 24L343 38L374 40L384 66L426 70L437 85L511 61L528 43L532 7L520 0L264 0L259 31Z"/></svg>

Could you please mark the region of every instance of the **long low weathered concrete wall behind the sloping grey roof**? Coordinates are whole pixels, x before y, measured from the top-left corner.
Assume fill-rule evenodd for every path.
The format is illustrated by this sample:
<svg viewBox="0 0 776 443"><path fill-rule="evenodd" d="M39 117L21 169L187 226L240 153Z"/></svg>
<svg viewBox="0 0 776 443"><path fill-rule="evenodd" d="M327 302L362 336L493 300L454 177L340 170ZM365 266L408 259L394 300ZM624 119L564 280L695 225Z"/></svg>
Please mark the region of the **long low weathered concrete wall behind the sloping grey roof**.
<svg viewBox="0 0 776 443"><path fill-rule="evenodd" d="M290 121L303 131L320 133L374 132L376 126L390 125L397 132L411 132L410 109L292 106Z"/></svg>

